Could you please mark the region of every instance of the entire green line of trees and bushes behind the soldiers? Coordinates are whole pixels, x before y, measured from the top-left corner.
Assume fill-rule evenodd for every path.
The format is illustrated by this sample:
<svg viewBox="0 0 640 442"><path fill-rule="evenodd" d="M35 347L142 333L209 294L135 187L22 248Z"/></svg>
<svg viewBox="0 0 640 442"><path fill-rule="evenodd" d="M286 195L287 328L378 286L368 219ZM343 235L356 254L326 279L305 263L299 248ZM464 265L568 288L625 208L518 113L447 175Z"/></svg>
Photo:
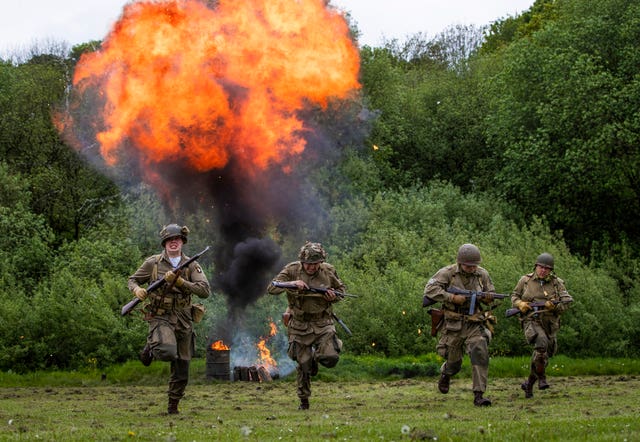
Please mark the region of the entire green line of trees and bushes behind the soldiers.
<svg viewBox="0 0 640 442"><path fill-rule="evenodd" d="M538 0L484 28L360 49L370 131L313 176L327 207L315 239L360 295L336 307L354 332L348 351L433 351L422 289L473 242L501 293L539 253L556 257L576 299L561 352L638 355L638 16L629 0ZM108 365L143 342L144 323L119 317L126 277L175 214L144 185L119 187L52 120L80 54L99 44L0 60L2 370ZM195 251L208 238L193 230ZM295 259L300 244L277 238ZM259 299L247 322L259 334L284 302ZM227 313L222 296L207 304L201 336ZM503 309L492 351L522 354Z"/></svg>

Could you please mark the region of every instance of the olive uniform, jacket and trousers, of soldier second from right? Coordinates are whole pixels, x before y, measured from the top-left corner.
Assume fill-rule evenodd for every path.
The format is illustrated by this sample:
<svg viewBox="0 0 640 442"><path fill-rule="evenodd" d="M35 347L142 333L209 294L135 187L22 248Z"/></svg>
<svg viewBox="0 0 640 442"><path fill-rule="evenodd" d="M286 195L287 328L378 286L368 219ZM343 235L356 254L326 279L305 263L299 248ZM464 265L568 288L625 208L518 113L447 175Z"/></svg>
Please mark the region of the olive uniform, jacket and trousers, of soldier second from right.
<svg viewBox="0 0 640 442"><path fill-rule="evenodd" d="M491 322L495 318L489 310L483 311L479 300L476 312L469 315L470 298L461 306L453 304L453 294L446 291L448 287L483 292L495 292L495 288L484 268L477 267L474 273L466 273L461 265L452 264L438 270L424 289L424 296L441 302L444 310L437 345L438 354L445 358L442 373L453 376L460 371L466 348L471 359L473 391L484 393L489 375Z"/></svg>

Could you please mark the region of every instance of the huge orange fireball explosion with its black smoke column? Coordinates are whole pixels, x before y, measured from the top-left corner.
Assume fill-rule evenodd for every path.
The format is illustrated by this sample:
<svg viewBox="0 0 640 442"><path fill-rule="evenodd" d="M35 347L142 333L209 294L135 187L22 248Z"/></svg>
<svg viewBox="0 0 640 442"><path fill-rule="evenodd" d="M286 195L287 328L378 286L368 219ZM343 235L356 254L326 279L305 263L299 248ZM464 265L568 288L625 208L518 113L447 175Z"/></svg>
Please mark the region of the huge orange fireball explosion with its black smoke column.
<svg viewBox="0 0 640 442"><path fill-rule="evenodd" d="M94 159L121 180L151 186L176 218L213 220L214 279L233 317L280 264L274 226L313 231L319 204L301 202L297 166L313 167L314 149L326 165L337 142L325 135L346 138L317 120L357 101L359 63L344 16L324 0L134 1L78 61L57 125L78 151L97 146Z"/></svg>

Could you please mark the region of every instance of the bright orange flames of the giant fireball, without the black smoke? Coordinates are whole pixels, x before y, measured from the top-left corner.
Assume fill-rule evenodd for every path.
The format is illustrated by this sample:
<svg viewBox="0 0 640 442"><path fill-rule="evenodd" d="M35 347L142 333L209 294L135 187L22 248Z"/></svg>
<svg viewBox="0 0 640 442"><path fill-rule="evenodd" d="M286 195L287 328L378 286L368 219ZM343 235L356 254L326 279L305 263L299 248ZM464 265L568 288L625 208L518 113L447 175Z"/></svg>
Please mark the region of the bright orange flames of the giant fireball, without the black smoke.
<svg viewBox="0 0 640 442"><path fill-rule="evenodd" d="M134 154L155 185L160 174L149 166L167 162L196 172L232 159L248 174L272 163L286 170L306 145L297 112L360 88L348 25L326 3L127 4L73 78L81 97L102 101L91 122L102 157L113 166ZM74 124L67 116L62 128Z"/></svg>

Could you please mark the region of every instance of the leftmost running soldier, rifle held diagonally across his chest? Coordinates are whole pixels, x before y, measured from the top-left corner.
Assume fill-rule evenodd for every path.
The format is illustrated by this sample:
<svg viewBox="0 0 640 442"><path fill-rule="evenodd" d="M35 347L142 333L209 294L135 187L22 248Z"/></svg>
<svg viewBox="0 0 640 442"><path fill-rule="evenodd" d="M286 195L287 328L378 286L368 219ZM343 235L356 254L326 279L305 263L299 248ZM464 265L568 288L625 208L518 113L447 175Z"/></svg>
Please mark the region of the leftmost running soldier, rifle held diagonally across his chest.
<svg viewBox="0 0 640 442"><path fill-rule="evenodd" d="M191 298L194 295L206 298L211 293L207 277L196 261L179 275L175 272L189 259L182 252L188 235L186 226L164 226L160 231L164 250L148 257L128 281L129 290L141 301L147 301L145 320L149 323L149 334L140 360L146 366L154 359L171 363L169 414L178 413L178 403L189 381L189 362L195 350ZM147 293L142 287L159 278L167 282L161 289Z"/></svg>

